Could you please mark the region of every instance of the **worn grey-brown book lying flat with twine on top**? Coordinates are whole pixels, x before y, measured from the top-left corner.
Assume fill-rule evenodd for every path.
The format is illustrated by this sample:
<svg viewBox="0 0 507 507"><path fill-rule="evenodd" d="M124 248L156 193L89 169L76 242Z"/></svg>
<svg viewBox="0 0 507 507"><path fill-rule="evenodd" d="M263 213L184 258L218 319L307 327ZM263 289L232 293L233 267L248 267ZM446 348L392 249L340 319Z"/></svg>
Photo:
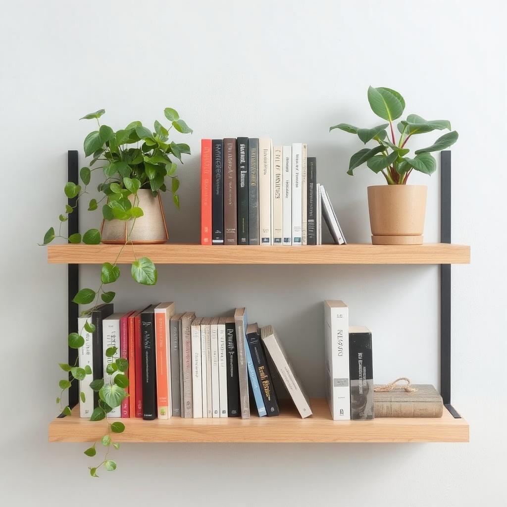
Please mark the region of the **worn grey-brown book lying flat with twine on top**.
<svg viewBox="0 0 507 507"><path fill-rule="evenodd" d="M376 387L376 386L375 386ZM375 417L442 417L442 396L430 384L412 384L415 392L393 389L375 392Z"/></svg>

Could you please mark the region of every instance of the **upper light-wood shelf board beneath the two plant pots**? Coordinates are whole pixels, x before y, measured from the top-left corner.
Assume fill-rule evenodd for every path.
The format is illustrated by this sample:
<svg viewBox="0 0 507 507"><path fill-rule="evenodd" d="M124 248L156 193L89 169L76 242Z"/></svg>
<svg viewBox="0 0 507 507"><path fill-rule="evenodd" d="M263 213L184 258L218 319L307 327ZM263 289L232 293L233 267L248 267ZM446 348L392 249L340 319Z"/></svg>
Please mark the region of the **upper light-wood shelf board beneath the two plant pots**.
<svg viewBox="0 0 507 507"><path fill-rule="evenodd" d="M102 264L113 262L121 245L64 244L48 246L48 262ZM135 245L136 256L155 264L469 264L470 247L448 243L422 245L216 245L165 243ZM134 261L124 247L120 264Z"/></svg>

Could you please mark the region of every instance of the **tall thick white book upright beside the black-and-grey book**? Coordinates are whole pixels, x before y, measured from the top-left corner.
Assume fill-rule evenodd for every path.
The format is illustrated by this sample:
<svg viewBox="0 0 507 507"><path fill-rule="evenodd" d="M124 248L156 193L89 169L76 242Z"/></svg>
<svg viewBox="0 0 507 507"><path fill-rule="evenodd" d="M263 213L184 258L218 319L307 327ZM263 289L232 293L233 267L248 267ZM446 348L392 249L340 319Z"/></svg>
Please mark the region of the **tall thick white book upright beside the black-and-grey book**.
<svg viewBox="0 0 507 507"><path fill-rule="evenodd" d="M348 307L343 301L324 301L325 392L331 417L350 420Z"/></svg>

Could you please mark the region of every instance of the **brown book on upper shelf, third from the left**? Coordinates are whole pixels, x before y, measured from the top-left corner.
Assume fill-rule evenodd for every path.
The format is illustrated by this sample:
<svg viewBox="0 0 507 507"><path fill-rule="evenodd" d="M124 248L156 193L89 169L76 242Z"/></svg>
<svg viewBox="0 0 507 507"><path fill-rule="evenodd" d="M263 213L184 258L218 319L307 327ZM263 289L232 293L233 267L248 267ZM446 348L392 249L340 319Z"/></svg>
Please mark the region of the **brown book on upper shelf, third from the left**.
<svg viewBox="0 0 507 507"><path fill-rule="evenodd" d="M226 245L238 244L236 202L236 139L224 139L224 238Z"/></svg>

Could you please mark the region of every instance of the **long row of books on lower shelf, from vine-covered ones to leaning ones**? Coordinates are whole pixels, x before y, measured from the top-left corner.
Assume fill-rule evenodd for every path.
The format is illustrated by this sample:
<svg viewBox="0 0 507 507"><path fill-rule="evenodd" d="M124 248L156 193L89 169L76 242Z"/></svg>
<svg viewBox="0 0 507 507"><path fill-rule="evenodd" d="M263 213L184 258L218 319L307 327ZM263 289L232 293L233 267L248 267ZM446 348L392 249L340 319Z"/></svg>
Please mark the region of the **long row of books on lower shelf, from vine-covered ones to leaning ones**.
<svg viewBox="0 0 507 507"><path fill-rule="evenodd" d="M84 329L87 321L94 324L93 333ZM109 382L117 372L108 365L117 357L128 359L129 396L109 417L247 419L249 390L259 417L277 416L273 374L301 417L311 415L308 396L273 328L248 324L244 308L231 317L201 318L195 312L176 314L172 302L120 313L114 313L113 304L103 304L80 317L78 327L85 340L79 366L92 371L80 381L85 395L81 417L90 417L98 406L90 382ZM118 356L106 354L111 347Z"/></svg>

